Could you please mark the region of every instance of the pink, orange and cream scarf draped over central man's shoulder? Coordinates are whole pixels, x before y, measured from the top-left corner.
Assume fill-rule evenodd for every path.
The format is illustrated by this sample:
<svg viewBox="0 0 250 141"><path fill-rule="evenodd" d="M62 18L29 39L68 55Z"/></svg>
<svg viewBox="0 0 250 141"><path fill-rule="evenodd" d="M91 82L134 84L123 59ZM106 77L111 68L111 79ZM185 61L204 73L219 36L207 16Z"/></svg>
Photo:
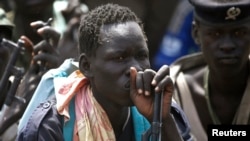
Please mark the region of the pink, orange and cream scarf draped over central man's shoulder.
<svg viewBox="0 0 250 141"><path fill-rule="evenodd" d="M93 97L88 79L73 72L56 91L57 111L68 121L69 103L75 96L76 122L74 141L115 141L115 134L106 112Z"/></svg>

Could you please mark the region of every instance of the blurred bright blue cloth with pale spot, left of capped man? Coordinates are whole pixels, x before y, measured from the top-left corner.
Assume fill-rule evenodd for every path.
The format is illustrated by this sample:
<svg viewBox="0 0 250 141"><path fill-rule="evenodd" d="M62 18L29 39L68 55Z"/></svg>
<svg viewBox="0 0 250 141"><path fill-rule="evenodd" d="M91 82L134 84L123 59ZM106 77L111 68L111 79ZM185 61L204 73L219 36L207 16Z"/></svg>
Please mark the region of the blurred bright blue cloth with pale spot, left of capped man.
<svg viewBox="0 0 250 141"><path fill-rule="evenodd" d="M159 69L163 64L170 65L183 55L200 51L191 35L192 21L193 6L188 0L179 0L153 58L154 68Z"/></svg>

